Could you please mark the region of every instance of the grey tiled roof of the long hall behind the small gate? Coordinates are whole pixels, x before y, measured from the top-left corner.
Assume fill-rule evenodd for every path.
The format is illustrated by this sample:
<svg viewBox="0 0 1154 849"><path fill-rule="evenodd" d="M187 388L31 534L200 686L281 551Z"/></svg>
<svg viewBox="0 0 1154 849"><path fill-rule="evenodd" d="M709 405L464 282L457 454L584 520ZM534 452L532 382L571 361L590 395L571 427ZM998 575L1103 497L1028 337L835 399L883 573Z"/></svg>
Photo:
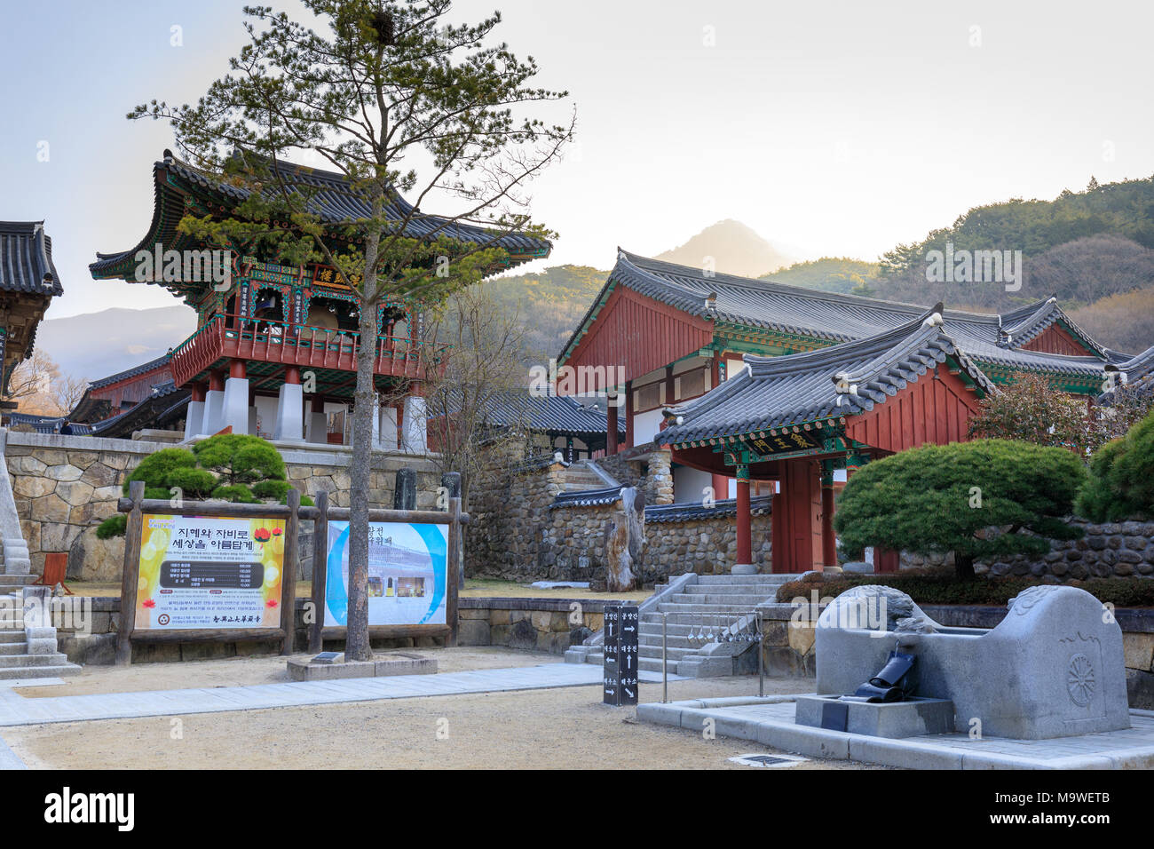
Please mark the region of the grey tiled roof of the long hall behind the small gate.
<svg viewBox="0 0 1154 849"><path fill-rule="evenodd" d="M822 292L801 286L729 274L706 277L702 269L652 260L619 248L606 289L624 285L691 315L720 323L760 328L831 343L865 338L900 327L924 313L924 306ZM576 347L605 291L594 300L562 352ZM1104 349L1065 315L1054 298L1002 315L944 310L947 333L975 359L1011 370L1065 375L1101 373ZM1101 356L1071 357L1022 350L1056 321ZM1009 336L1007 336L1009 334Z"/></svg>

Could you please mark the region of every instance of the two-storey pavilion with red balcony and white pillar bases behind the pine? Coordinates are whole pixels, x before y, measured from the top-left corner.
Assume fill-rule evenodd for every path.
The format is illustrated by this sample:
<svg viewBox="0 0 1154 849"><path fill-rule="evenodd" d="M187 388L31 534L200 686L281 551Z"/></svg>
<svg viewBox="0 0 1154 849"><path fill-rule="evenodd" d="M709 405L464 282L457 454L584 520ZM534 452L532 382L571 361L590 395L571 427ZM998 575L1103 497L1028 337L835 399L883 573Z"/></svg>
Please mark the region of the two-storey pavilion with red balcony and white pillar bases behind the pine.
<svg viewBox="0 0 1154 849"><path fill-rule="evenodd" d="M338 232L343 222L370 215L367 202L343 174L291 163L277 167L288 184L302 187L309 210L331 225L334 247L347 241L349 237ZM193 307L196 332L163 358L93 385L89 393L92 412L104 401L104 409L123 416L128 407L155 399L156 412L160 414L162 408L167 409L167 395L187 392L186 439L225 429L256 433L257 422L263 420L262 430L272 439L349 442L349 429L331 433L330 423L334 418L347 420L351 410L359 347L357 293L331 267L288 267L268 256L237 251L231 252L231 280L222 286L208 273L213 246L180 233L177 225L190 214L223 217L247 193L179 161L167 150L152 166L152 222L144 236L127 251L98 253L89 269L97 280L135 283L141 278L141 252L156 256L157 273L147 284L162 285ZM550 251L549 243L540 239L495 237L478 226L415 211L399 195L392 203L396 219L411 215L406 237L433 241L449 236L503 248L508 262L494 268L494 273L547 256ZM170 274L165 262L165 273L159 274L160 258L172 251L186 258L183 265L179 273ZM424 305L414 300L388 301L377 307L375 383L380 396L399 399L379 404L374 416L372 438L382 449L427 450L422 387L430 368L435 371L443 347L424 338L422 310ZM158 393L163 393L159 399Z"/></svg>

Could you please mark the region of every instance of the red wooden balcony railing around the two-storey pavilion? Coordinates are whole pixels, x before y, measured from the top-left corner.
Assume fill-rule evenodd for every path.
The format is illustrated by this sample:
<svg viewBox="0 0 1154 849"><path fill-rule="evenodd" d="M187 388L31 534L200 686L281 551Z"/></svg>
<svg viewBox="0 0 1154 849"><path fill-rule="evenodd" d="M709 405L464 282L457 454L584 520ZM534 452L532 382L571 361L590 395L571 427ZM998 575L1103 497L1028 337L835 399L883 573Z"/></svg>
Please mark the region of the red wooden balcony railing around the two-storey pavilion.
<svg viewBox="0 0 1154 849"><path fill-rule="evenodd" d="M217 315L172 352L172 378L182 386L220 359L279 363L300 368L355 371L360 334L269 319ZM448 345L382 336L374 370L391 377L422 378Z"/></svg>

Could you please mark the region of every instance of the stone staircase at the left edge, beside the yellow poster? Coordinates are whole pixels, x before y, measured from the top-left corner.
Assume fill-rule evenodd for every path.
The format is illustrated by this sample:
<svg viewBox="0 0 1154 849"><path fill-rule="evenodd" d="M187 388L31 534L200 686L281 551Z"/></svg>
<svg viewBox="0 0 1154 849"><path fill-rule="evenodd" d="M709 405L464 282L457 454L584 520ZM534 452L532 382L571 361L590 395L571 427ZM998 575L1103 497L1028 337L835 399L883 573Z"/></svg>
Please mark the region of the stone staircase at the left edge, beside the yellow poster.
<svg viewBox="0 0 1154 849"><path fill-rule="evenodd" d="M2 460L2 457L0 457ZM57 650L57 630L47 605L50 587L33 587L28 545L8 538L0 548L0 680L80 675ZM25 613L31 618L25 619Z"/></svg>

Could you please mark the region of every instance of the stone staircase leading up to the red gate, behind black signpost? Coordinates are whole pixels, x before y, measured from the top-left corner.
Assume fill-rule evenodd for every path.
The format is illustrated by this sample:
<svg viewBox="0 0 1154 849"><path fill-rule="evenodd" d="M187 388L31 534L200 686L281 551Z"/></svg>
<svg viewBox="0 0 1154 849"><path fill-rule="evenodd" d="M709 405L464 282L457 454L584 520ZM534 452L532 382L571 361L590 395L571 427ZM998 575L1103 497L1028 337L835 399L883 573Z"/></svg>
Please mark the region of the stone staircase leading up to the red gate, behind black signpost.
<svg viewBox="0 0 1154 849"><path fill-rule="evenodd" d="M691 639L702 633L719 634L751 631L754 609L777 598L782 583L797 575L682 575L674 579L680 586L659 586L653 603L640 610L638 666L661 671L661 619L668 613L668 669L687 678L711 678L747 671L741 655L752 643L705 642ZM688 579L688 580L685 580ZM584 646L570 648L565 661L570 663L601 663L601 634ZM752 651L750 651L752 654ZM756 658L756 654L752 654ZM751 669L756 671L756 660Z"/></svg>

